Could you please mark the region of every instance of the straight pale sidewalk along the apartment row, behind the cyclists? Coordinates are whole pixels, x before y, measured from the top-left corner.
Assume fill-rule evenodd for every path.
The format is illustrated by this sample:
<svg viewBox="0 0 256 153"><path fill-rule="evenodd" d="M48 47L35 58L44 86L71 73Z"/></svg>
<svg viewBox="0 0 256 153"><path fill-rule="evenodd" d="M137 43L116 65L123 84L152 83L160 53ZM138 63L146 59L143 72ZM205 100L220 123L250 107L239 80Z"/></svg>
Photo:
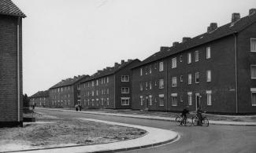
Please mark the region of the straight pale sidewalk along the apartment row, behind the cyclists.
<svg viewBox="0 0 256 153"><path fill-rule="evenodd" d="M164 120L164 121L175 121L175 118L169 117L161 117L161 116L148 116L148 115L127 115L120 113L103 113L97 111L70 111L64 109L54 109L54 108L41 108L37 107L37 109L46 109L53 111L67 111L67 112L77 112L77 113L86 113L93 115L111 115L111 116L120 116L120 117L128 117L128 118L145 118L145 119L156 119L156 120ZM210 120L210 125L223 125L223 126L256 126L256 122L230 122L230 121L213 121Z"/></svg>

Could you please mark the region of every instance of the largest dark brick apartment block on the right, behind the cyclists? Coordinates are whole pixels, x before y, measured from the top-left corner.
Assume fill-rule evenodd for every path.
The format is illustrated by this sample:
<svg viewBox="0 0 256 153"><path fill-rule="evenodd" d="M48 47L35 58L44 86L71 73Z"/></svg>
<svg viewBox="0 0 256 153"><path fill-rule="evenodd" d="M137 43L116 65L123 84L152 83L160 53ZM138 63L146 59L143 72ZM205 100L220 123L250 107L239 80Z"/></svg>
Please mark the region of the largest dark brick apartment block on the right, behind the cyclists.
<svg viewBox="0 0 256 153"><path fill-rule="evenodd" d="M132 108L256 112L256 9L143 60L132 69Z"/></svg>

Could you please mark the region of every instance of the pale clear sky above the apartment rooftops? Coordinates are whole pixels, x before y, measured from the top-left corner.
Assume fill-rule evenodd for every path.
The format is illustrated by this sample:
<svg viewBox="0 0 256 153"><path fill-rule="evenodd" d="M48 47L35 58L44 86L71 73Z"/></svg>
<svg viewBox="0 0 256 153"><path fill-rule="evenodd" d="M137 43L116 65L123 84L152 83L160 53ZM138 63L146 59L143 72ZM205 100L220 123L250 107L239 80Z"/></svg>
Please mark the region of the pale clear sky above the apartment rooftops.
<svg viewBox="0 0 256 153"><path fill-rule="evenodd" d="M121 60L144 60L183 37L247 16L255 0L13 0L23 20L28 96L61 79L92 75Z"/></svg>

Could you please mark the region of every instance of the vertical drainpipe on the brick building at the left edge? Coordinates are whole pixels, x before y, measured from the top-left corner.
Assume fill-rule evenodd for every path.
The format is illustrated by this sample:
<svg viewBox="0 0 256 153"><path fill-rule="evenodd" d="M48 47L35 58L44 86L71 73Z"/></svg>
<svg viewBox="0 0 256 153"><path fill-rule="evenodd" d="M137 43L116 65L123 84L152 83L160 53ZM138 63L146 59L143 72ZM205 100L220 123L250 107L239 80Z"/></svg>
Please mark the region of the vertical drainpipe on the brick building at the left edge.
<svg viewBox="0 0 256 153"><path fill-rule="evenodd" d="M17 94L18 122L20 122L20 17L17 19Z"/></svg>

